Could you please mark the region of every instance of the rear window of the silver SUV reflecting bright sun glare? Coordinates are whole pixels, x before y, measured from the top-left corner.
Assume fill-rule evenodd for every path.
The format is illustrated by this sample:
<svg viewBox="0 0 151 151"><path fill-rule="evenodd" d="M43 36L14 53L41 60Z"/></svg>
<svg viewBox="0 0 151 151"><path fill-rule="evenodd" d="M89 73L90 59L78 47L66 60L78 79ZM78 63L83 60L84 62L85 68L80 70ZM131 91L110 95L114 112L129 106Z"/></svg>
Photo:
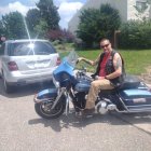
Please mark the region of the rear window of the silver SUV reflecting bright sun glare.
<svg viewBox="0 0 151 151"><path fill-rule="evenodd" d="M56 53L54 47L49 42L15 42L9 46L10 56L25 56L25 55L50 55Z"/></svg>

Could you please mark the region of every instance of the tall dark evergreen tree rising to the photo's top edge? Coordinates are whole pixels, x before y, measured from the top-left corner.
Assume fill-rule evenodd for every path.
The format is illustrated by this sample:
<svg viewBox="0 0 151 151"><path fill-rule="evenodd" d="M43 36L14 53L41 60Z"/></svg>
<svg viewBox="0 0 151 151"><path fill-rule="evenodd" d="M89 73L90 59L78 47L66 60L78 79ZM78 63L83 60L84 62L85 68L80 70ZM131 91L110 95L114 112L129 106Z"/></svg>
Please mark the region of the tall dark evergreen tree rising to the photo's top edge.
<svg viewBox="0 0 151 151"><path fill-rule="evenodd" d="M47 24L47 30L58 29L60 17L57 12L57 8L53 3L53 0L40 0L36 5L40 10L43 22L46 22Z"/></svg>

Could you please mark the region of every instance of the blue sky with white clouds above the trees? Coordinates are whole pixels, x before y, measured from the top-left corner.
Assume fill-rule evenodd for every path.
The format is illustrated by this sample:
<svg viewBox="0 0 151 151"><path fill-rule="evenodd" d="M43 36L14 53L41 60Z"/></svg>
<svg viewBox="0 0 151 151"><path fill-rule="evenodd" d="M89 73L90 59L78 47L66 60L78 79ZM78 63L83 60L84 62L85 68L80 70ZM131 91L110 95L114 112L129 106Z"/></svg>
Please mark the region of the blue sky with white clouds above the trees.
<svg viewBox="0 0 151 151"><path fill-rule="evenodd" d="M76 12L83 6L86 0L53 0L58 6L60 16L59 25L61 28L68 28L68 22ZM18 11L26 15L29 9L36 8L39 0L0 0L0 16L10 12Z"/></svg>

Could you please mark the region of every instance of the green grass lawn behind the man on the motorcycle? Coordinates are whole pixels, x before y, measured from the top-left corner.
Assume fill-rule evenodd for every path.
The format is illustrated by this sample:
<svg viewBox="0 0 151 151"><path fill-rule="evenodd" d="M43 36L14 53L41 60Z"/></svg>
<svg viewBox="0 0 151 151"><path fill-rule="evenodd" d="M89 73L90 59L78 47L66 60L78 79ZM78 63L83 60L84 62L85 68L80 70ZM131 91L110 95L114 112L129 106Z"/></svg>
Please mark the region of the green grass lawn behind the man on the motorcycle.
<svg viewBox="0 0 151 151"><path fill-rule="evenodd" d="M101 50L88 50L88 51L77 51L79 56L86 57L88 59L96 59ZM125 70L127 73L139 76L146 72L146 68L151 67L151 50L119 50L120 54L124 58ZM59 52L60 56L66 56L69 52ZM95 67L88 66L85 63L78 65L78 68L84 66L88 71L94 72Z"/></svg>

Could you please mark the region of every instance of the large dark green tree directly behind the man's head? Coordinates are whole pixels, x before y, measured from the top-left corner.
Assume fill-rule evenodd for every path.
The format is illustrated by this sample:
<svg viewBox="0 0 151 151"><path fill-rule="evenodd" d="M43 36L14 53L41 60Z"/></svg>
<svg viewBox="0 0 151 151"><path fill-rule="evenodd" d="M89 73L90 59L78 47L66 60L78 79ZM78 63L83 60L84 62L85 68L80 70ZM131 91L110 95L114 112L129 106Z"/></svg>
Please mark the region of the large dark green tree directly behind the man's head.
<svg viewBox="0 0 151 151"><path fill-rule="evenodd" d="M86 9L81 12L77 36L86 46L92 46L104 37L112 39L120 25L119 11L110 4L102 4L99 9Z"/></svg>

